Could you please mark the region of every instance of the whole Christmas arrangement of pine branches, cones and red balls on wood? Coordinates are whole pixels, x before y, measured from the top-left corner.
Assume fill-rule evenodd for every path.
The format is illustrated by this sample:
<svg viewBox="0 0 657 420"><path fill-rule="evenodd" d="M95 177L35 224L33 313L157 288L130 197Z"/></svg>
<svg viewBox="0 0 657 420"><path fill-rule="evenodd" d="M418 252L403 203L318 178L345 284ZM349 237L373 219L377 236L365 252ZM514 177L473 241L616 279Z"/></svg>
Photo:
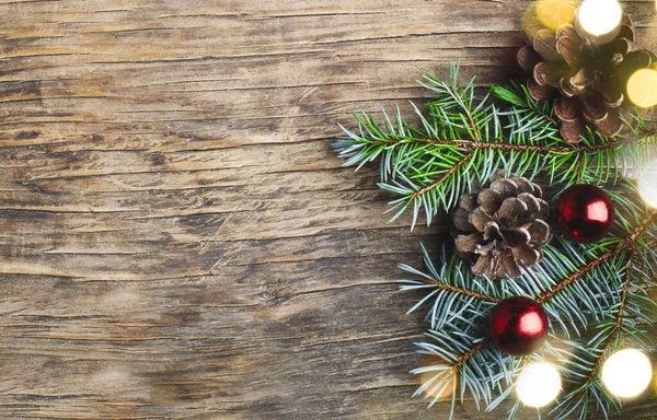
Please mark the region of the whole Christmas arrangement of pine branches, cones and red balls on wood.
<svg viewBox="0 0 657 420"><path fill-rule="evenodd" d="M346 166L380 162L378 185L394 197L391 220L410 213L413 229L420 214L427 224L452 214L453 243L441 250L422 245L424 269L400 265L411 276L401 289L418 295L408 312L425 311L428 327L417 343L428 359L412 371L422 383L415 395L434 405L449 394L452 415L465 398L494 410L517 395L508 410L514 418L528 395L521 388L531 384L527 368L548 361L558 366L563 386L548 418L619 411L621 394L603 386L602 366L625 347L647 350L645 330L657 316L647 294L657 272L657 209L623 177L646 168L657 128L631 107L619 118L622 81L654 56L633 51L627 16L604 45L576 22L549 28L552 38L545 30L527 31L532 47L519 55L525 65L535 61L526 66L538 75L529 86L493 86L481 97L474 79L461 84L458 67L450 67L449 81L420 82L430 96L426 110L414 105L417 126L399 110L380 118L364 113L334 143ZM566 200L578 185L588 192ZM591 185L603 185L611 201L592 200ZM585 202L586 211L569 201ZM554 223L566 226L564 235L544 229L543 202L554 209ZM527 404L543 406L557 394Z"/></svg>

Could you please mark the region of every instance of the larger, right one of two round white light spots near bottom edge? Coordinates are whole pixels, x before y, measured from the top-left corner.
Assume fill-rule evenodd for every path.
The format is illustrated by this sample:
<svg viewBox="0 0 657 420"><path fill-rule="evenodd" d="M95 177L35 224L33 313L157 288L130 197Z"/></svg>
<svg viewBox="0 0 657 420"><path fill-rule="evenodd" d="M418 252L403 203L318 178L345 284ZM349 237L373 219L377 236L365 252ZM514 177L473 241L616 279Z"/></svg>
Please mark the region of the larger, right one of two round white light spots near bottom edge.
<svg viewBox="0 0 657 420"><path fill-rule="evenodd" d="M653 366L643 352L621 350L609 358L602 366L602 384L618 397L635 397L650 385Z"/></svg>

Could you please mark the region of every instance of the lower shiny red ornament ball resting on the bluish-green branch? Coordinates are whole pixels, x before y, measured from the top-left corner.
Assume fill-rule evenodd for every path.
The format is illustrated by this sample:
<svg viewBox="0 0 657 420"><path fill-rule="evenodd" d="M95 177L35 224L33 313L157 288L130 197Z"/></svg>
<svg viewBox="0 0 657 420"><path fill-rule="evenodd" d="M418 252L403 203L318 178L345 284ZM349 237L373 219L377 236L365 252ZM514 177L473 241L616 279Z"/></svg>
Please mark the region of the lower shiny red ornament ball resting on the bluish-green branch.
<svg viewBox="0 0 657 420"><path fill-rule="evenodd" d="M548 337L550 322L541 304L525 296L507 298L491 314L491 338L495 347L510 355L537 351Z"/></svg>

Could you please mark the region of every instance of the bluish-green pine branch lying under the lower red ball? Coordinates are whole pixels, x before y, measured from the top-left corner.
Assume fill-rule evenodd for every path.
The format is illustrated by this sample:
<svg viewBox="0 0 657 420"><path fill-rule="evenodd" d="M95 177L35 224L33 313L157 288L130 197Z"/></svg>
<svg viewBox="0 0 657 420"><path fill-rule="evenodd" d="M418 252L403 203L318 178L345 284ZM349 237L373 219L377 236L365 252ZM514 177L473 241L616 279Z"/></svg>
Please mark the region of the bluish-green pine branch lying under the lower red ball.
<svg viewBox="0 0 657 420"><path fill-rule="evenodd" d="M431 389L458 386L461 400L468 392L477 406L483 400L487 410L507 398L515 378L530 359L508 358L495 347L487 346L485 319L502 299L528 295L538 296L551 319L562 325L566 335L563 349L545 345L542 352L531 358L541 360L552 354L564 363L563 374L572 389L552 411L555 418L565 419L576 410L586 416L589 401L595 401L595 407L603 413L618 409L618 401L607 395L599 382L599 370L625 337L631 337L638 347L647 339L641 325L650 325L648 314L655 308L649 306L655 303L644 298L642 291L648 284L646 272L655 271L646 268L647 261L657 267L657 255L650 248L654 240L646 240L657 231L657 210L646 210L637 202L636 190L631 184L621 183L616 188L610 189L609 194L616 203L614 231L619 234L586 245L574 245L556 236L544 248L543 261L519 279L500 282L477 279L460 258L447 258L445 249L438 258L440 270L424 247L426 272L400 266L423 277L422 281L404 280L403 290L429 291L412 311L422 304L428 306L431 330L427 337L430 342L418 346L422 352L446 362L446 370L436 371ZM579 329L591 326L599 328L592 339L585 342L569 340L573 335L581 336ZM561 338L553 339L561 341ZM419 368L413 372L431 369ZM420 387L416 394L426 390L427 387ZM431 405L436 401L434 398ZM518 405L514 407L509 418L518 408Z"/></svg>

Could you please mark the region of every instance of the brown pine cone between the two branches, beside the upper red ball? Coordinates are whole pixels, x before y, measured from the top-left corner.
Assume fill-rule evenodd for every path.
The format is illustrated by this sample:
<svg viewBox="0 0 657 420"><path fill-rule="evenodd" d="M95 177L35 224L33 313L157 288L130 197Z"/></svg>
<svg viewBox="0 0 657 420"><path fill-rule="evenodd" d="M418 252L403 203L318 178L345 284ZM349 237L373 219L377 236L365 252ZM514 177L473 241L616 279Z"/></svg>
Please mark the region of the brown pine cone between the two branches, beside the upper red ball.
<svg viewBox="0 0 657 420"><path fill-rule="evenodd" d="M521 276L543 257L540 249L552 233L550 207L541 188L527 178L496 172L483 188L461 197L453 214L457 252L476 257L472 272L492 280Z"/></svg>

